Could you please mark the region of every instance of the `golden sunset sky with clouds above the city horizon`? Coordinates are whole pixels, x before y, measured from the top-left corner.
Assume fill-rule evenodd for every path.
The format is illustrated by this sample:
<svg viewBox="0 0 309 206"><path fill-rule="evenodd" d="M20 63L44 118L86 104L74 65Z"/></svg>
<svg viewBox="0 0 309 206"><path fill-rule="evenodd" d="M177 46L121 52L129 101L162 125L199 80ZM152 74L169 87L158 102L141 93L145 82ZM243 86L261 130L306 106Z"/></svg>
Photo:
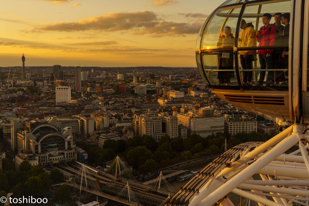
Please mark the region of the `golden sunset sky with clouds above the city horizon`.
<svg viewBox="0 0 309 206"><path fill-rule="evenodd" d="M0 66L196 66L202 23L225 0L10 0Z"/></svg>

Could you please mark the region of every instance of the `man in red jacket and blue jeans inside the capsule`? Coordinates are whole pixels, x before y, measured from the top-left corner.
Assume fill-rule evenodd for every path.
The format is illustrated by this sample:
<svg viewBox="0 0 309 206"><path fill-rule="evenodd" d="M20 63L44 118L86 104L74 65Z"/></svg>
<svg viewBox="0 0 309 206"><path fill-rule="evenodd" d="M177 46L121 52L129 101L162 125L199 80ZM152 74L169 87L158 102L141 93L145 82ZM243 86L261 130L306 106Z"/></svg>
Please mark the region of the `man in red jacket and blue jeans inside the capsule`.
<svg viewBox="0 0 309 206"><path fill-rule="evenodd" d="M256 31L256 40L259 42L259 46L274 46L276 43L276 27L270 24L271 14L266 13L262 17L264 26ZM272 65L272 53L273 49L258 50L261 69L273 69ZM260 72L260 78L256 86L262 86L265 78L265 71ZM273 72L268 72L266 77L266 85L270 86L270 81L273 78Z"/></svg>

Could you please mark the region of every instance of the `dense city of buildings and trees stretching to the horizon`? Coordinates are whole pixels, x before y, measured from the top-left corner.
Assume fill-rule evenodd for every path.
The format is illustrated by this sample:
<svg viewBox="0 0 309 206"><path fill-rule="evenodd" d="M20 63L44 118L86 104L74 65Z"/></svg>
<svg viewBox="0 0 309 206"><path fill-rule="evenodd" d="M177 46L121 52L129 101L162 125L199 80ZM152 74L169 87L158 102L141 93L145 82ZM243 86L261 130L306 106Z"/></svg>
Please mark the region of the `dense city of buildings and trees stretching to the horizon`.
<svg viewBox="0 0 309 206"><path fill-rule="evenodd" d="M242 142L275 135L273 117L223 101L194 67L26 62L25 54L21 66L0 68L0 196L11 192L14 198L74 205L74 187L57 185L74 179L63 167L68 164L79 162L100 174L118 160L130 172L114 168L116 176L151 182L177 164L206 163Z"/></svg>

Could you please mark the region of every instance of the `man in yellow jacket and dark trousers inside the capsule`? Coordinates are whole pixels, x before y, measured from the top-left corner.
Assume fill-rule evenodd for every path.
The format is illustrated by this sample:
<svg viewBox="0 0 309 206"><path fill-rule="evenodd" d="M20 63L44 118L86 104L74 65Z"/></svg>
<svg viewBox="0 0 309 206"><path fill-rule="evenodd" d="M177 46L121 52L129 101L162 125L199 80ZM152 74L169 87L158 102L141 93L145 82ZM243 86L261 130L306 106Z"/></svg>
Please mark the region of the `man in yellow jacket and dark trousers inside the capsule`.
<svg viewBox="0 0 309 206"><path fill-rule="evenodd" d="M252 23L246 23L244 19L240 23L241 33L238 39L239 47L254 47L256 46L256 32ZM250 48L249 48L250 49ZM252 69L252 56L256 55L256 50L239 51L240 64L242 69ZM243 86L251 85L252 72L243 72Z"/></svg>

